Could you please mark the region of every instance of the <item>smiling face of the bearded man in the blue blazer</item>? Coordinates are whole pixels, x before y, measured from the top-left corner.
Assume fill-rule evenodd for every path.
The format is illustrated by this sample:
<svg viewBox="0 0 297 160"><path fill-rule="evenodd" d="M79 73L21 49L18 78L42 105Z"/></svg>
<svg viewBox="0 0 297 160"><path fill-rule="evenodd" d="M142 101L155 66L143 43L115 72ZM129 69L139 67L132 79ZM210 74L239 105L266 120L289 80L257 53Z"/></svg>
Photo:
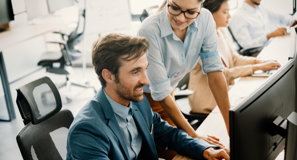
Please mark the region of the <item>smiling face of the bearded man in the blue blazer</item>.
<svg viewBox="0 0 297 160"><path fill-rule="evenodd" d="M114 89L120 101L124 103L140 102L143 99L143 87L148 84L146 68L147 55L131 61L122 60L118 79L115 80Z"/></svg>

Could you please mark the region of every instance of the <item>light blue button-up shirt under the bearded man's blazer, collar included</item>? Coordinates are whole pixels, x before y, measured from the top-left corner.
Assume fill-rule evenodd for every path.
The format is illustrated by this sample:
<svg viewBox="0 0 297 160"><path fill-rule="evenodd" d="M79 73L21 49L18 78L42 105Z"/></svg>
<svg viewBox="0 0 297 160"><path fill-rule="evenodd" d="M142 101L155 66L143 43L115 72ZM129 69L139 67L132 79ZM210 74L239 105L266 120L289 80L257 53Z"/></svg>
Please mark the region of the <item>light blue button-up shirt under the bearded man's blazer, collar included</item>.
<svg viewBox="0 0 297 160"><path fill-rule="evenodd" d="M112 100L105 93L105 91L104 91L104 94L111 104L115 118L119 123L121 131L123 133L123 136L129 151L130 160L134 160L135 158L137 158L141 149L142 135L138 134L138 128L134 123L134 120L132 117L133 110L132 110L131 103L129 104L129 107L126 107Z"/></svg>

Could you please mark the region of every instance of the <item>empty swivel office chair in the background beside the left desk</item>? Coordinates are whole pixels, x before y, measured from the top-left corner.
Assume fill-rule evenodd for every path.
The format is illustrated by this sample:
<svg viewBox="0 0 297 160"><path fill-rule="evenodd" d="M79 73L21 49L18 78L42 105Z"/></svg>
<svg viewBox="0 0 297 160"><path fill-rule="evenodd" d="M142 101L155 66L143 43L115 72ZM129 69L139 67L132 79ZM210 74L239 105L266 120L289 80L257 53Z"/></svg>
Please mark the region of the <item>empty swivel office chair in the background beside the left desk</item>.
<svg viewBox="0 0 297 160"><path fill-rule="evenodd" d="M62 33L62 32L55 32L55 33L61 34L63 41L49 42L49 43L60 44L61 51L44 53L41 55L40 61L38 62L38 65L46 67L47 72L66 75L66 82L63 84L57 85L57 88L66 86L67 88L66 98L68 102L71 101L71 98L68 96L71 85L84 87L84 88L93 88L94 92L96 93L96 89L92 86L75 83L69 80L68 75L70 74L70 71L68 70L69 68L66 67L66 66L72 66L72 61L77 60L82 56L82 53L79 50L75 49L75 46L82 41L84 36L84 32L81 32L81 33L77 32L79 24L82 22L81 17L83 17L83 31L84 31L85 10L82 10L79 13L77 27L73 32L71 32L70 35L66 35L65 33Z"/></svg>

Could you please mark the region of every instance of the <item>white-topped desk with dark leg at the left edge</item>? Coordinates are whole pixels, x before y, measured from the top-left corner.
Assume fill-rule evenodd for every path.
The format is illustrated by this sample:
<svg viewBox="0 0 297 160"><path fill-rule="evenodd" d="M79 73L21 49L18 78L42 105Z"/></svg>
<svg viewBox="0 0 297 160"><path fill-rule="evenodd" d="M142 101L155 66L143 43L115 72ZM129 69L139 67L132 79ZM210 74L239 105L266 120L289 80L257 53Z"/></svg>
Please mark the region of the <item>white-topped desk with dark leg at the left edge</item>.
<svg viewBox="0 0 297 160"><path fill-rule="evenodd" d="M16 118L2 50L47 32L57 31L60 28L66 27L69 23L77 22L77 16L55 16L54 14L51 14L43 17L42 20L43 23L39 25L25 24L13 27L9 31L0 32L0 77L9 114L8 119L1 119L0 117L0 120L10 121Z"/></svg>

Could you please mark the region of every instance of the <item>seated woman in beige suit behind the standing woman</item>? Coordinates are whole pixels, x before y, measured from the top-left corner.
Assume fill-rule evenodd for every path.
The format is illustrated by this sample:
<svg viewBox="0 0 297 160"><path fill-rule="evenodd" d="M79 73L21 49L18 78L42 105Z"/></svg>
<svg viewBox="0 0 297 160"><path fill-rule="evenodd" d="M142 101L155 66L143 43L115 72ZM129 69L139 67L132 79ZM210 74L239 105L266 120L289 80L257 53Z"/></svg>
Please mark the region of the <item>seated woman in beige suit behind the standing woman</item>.
<svg viewBox="0 0 297 160"><path fill-rule="evenodd" d="M212 13L216 22L219 54L222 57L223 74L228 85L233 85L234 79L251 75L256 70L268 71L280 67L276 61L264 61L255 57L242 56L230 47L222 29L222 27L228 26L230 18L228 0L205 0L204 8ZM188 89L195 91L194 94L188 96L191 112L210 113L217 106L207 85L207 78L203 74L200 60L190 71Z"/></svg>

